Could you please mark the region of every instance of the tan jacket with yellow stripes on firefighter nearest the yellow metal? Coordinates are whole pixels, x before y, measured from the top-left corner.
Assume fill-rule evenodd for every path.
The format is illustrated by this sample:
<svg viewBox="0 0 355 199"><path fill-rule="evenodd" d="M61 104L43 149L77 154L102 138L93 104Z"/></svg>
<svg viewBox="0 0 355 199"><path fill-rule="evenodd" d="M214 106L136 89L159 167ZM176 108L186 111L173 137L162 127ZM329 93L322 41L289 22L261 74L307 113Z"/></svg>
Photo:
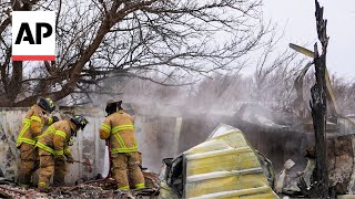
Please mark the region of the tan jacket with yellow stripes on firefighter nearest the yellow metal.
<svg viewBox="0 0 355 199"><path fill-rule="evenodd" d="M100 138L110 139L111 154L138 151L134 119L123 111L104 119L100 127Z"/></svg>

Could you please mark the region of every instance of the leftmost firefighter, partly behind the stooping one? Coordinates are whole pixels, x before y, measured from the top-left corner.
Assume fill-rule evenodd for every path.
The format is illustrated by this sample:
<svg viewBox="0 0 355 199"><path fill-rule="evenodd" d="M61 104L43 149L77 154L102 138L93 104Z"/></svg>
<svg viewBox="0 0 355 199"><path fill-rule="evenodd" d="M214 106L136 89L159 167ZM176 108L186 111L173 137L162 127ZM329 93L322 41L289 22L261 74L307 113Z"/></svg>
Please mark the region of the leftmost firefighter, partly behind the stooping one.
<svg viewBox="0 0 355 199"><path fill-rule="evenodd" d="M21 130L17 139L17 147L20 149L21 165L19 168L18 182L21 187L29 187L32 174L38 168L38 153L34 148L38 137L42 133L43 125L51 125L58 118L45 117L44 114L54 111L55 106L50 98L41 97L37 105L26 114Z"/></svg>

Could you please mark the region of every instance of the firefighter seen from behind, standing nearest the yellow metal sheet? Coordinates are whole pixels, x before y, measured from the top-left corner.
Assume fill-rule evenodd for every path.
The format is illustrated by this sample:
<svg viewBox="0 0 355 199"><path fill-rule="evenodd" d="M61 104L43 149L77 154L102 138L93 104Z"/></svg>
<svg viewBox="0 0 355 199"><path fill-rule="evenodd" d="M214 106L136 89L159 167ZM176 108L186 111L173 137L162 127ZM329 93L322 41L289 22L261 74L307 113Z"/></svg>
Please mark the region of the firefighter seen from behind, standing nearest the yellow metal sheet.
<svg viewBox="0 0 355 199"><path fill-rule="evenodd" d="M130 190L129 179L134 189L143 189L133 117L123 112L122 101L110 100L105 112L108 117L100 127L100 138L108 139L111 146L112 175L119 190Z"/></svg>

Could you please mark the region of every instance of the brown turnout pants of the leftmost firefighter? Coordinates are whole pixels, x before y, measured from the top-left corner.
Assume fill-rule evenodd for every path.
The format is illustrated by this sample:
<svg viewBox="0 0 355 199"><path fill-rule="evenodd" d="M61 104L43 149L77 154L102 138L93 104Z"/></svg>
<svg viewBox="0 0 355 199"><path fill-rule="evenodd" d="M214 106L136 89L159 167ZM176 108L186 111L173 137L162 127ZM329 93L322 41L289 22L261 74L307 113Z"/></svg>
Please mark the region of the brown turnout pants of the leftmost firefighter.
<svg viewBox="0 0 355 199"><path fill-rule="evenodd" d="M29 186L31 184L31 177L38 169L38 148L33 145L22 143L20 146L21 165L19 168L18 181L21 186Z"/></svg>

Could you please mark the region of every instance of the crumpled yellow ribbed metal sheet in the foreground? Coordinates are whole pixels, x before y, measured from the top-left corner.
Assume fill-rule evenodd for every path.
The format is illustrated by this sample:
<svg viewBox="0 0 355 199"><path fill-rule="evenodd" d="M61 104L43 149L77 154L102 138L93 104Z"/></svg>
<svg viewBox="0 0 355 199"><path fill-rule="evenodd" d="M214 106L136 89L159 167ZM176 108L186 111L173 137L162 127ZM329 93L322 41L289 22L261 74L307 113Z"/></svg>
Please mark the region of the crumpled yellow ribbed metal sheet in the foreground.
<svg viewBox="0 0 355 199"><path fill-rule="evenodd" d="M278 198L237 128L221 124L184 155L184 198Z"/></svg>

